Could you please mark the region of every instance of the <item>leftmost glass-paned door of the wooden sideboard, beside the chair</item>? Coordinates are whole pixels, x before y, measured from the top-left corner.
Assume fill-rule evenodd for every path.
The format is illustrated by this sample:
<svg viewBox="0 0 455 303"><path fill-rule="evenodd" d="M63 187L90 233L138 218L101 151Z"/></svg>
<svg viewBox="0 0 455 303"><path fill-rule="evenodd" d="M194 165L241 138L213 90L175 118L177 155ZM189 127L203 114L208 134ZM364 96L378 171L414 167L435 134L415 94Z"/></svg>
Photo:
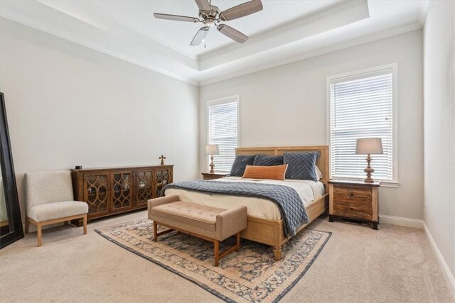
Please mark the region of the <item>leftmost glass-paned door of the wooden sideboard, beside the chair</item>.
<svg viewBox="0 0 455 303"><path fill-rule="evenodd" d="M83 191L89 218L109 214L109 173L85 174Z"/></svg>

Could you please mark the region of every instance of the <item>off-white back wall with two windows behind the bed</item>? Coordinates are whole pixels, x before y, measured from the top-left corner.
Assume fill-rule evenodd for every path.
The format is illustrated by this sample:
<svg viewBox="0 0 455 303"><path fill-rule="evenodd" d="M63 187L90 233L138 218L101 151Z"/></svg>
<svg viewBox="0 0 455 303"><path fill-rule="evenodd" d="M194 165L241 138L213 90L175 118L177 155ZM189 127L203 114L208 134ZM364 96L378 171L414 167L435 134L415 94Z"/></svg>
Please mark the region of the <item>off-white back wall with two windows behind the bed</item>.
<svg viewBox="0 0 455 303"><path fill-rule="evenodd" d="M398 188L380 189L380 214L423 218L422 30L377 40L200 88L206 102L240 95L240 146L326 145L326 77L398 63ZM200 154L201 171L207 170Z"/></svg>

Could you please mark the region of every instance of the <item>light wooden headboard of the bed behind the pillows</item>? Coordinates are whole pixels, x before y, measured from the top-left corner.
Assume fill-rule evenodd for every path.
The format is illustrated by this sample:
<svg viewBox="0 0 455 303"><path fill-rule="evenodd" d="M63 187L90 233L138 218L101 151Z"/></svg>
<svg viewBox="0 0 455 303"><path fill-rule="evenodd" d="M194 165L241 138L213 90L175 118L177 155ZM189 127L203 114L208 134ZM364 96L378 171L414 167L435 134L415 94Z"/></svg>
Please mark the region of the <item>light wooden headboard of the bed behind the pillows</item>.
<svg viewBox="0 0 455 303"><path fill-rule="evenodd" d="M291 153L303 153L303 152L316 152L319 151L319 155L316 160L316 166L321 170L322 177L321 182L327 184L328 181L328 145L321 146L278 146L272 148L235 148L235 155L256 155L262 153L262 155L283 155L285 152Z"/></svg>

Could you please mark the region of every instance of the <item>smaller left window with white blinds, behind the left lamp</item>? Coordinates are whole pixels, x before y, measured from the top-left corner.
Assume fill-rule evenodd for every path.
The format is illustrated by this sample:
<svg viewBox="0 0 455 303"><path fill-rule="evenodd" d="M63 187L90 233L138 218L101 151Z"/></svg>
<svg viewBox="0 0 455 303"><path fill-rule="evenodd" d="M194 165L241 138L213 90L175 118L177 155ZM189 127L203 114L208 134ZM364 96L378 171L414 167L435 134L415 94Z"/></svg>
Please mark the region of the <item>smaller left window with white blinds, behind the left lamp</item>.
<svg viewBox="0 0 455 303"><path fill-rule="evenodd" d="M208 144L218 144L220 155L214 155L215 170L230 171L238 147L238 97L208 102Z"/></svg>

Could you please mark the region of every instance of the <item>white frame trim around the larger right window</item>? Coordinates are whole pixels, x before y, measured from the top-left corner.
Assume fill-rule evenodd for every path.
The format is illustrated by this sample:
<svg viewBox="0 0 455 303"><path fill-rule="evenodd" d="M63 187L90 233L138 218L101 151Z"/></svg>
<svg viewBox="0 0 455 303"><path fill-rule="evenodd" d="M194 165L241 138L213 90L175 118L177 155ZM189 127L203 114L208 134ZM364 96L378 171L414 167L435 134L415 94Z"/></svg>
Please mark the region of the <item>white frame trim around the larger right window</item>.
<svg viewBox="0 0 455 303"><path fill-rule="evenodd" d="M363 70L356 70L354 72L344 72L342 74L331 75L326 78L326 144L329 146L331 153L331 82L340 79L346 79L346 81L355 78L360 79L363 75L365 77L370 77L375 72L381 72L382 70L387 69L392 70L392 180L381 181L381 185L385 187L398 187L398 64L396 62L377 67L365 68ZM330 169L329 171L330 177L332 177L332 170ZM337 179L363 180L363 178L360 177L337 177Z"/></svg>

